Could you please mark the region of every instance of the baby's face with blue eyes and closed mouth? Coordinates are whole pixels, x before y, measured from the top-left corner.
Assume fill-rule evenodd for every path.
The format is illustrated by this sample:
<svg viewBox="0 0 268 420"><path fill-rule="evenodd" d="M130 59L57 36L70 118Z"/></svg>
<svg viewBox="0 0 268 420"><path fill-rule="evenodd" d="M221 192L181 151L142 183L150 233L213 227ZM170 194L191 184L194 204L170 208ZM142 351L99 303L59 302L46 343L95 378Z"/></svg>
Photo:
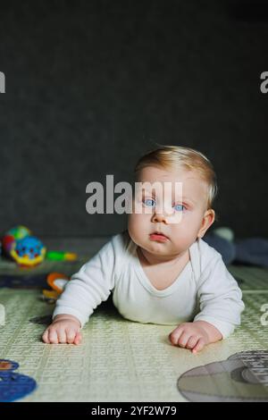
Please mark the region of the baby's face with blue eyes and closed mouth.
<svg viewBox="0 0 268 420"><path fill-rule="evenodd" d="M204 235L200 229L207 211L207 184L198 172L186 169L170 172L147 166L140 172L138 181L160 182L165 191L141 189L133 198L128 230L130 238L140 248L155 255L177 256L186 251L198 236ZM181 189L178 192L175 186L179 182ZM169 189L166 190L164 185ZM166 191L171 194L166 194ZM139 213L135 212L138 208ZM154 235L155 231L162 232L164 237Z"/></svg>

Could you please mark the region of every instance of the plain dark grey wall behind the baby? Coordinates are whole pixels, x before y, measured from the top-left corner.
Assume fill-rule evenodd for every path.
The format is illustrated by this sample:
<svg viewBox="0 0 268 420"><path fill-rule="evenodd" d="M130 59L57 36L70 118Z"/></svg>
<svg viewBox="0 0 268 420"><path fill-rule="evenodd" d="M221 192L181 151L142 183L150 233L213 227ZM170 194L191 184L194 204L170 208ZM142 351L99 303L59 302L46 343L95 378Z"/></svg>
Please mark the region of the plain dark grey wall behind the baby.
<svg viewBox="0 0 268 420"><path fill-rule="evenodd" d="M217 226L268 237L264 1L0 3L0 231L106 236L90 181L130 181L155 142L213 162Z"/></svg>

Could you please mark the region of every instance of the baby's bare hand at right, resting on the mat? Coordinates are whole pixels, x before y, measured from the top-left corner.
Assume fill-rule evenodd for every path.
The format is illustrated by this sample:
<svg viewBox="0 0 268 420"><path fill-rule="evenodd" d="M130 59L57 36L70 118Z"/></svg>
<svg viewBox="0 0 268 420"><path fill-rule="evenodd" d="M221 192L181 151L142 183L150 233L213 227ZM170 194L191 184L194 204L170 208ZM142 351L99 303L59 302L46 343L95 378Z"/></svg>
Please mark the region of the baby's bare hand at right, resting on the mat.
<svg viewBox="0 0 268 420"><path fill-rule="evenodd" d="M197 353L206 344L222 340L222 334L211 323L195 321L194 323L181 323L170 333L169 339L174 346L190 349L193 353Z"/></svg>

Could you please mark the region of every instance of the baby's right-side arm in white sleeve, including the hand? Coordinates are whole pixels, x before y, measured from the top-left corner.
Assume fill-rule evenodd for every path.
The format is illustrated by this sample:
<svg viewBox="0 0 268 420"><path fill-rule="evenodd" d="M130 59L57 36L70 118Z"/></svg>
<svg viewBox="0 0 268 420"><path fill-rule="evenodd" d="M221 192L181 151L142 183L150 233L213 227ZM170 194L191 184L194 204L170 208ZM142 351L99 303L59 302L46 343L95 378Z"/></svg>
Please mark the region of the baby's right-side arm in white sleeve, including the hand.
<svg viewBox="0 0 268 420"><path fill-rule="evenodd" d="M196 353L206 344L228 337L240 323L244 310L237 281L218 255L202 273L197 283L200 312L193 323L181 323L170 334L172 344Z"/></svg>

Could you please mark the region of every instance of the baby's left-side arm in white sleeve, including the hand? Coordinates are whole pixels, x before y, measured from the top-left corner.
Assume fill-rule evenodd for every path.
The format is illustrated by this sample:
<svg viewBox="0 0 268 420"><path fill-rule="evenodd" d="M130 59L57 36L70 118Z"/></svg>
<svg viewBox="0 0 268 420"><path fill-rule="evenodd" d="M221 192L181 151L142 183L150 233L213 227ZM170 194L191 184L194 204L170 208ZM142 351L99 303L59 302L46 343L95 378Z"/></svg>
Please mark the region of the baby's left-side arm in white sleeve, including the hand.
<svg viewBox="0 0 268 420"><path fill-rule="evenodd" d="M80 343L80 329L113 290L115 266L119 265L121 248L121 236L116 235L78 273L71 276L71 281L56 302L53 323L43 334L47 344Z"/></svg>

